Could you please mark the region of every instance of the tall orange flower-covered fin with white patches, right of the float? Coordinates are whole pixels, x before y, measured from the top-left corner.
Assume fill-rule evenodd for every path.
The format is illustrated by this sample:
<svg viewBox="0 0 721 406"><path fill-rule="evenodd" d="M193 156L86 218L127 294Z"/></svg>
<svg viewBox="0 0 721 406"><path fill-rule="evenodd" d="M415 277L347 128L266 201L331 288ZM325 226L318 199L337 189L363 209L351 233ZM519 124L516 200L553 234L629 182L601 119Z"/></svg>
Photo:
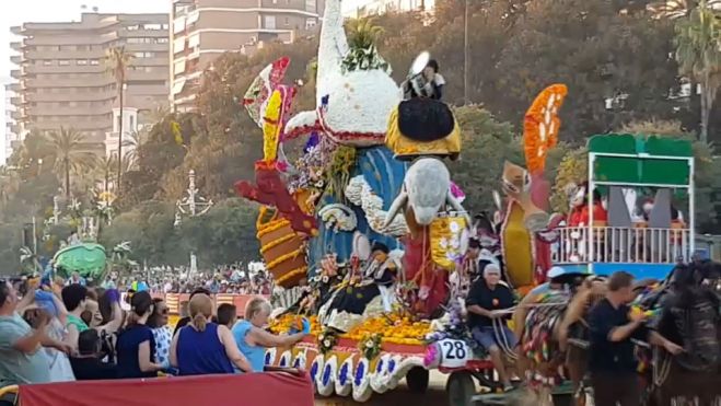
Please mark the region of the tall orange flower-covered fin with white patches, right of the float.
<svg viewBox="0 0 721 406"><path fill-rule="evenodd" d="M568 94L565 84L553 84L536 96L523 120L523 143L526 166L531 173L543 172L546 155L558 141L561 121L558 111Z"/></svg>

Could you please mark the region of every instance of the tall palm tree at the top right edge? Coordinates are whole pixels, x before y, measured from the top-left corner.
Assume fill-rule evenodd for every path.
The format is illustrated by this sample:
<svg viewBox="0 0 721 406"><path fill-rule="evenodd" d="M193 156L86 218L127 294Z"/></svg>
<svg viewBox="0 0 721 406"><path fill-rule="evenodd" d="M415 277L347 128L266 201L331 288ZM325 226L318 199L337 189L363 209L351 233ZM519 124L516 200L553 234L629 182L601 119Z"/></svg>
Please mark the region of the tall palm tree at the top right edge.
<svg viewBox="0 0 721 406"><path fill-rule="evenodd" d="M721 88L721 18L705 0L676 23L676 60L681 74L701 88L700 140L708 141L709 118Z"/></svg>

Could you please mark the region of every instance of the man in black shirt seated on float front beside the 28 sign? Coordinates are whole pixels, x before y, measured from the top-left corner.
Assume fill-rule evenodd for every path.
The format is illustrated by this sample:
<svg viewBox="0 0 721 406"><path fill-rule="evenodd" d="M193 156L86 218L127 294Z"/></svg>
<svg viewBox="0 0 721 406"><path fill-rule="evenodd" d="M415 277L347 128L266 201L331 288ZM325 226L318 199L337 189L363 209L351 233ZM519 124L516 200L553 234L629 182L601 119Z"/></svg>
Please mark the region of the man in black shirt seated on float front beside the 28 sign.
<svg viewBox="0 0 721 406"><path fill-rule="evenodd" d="M512 390L511 380L505 372L503 356L499 346L508 346L513 349L516 339L513 332L505 325L505 322L499 324L500 332L496 334L493 328L493 318L508 318L510 314L503 312L513 306L515 299L511 289L501 283L501 269L496 263L487 264L482 272L484 277L478 278L470 287L470 292L466 298L466 309L468 310L468 328L474 339L480 344L490 355L493 368L498 371L500 381L504 390ZM498 343L501 339L502 343Z"/></svg>

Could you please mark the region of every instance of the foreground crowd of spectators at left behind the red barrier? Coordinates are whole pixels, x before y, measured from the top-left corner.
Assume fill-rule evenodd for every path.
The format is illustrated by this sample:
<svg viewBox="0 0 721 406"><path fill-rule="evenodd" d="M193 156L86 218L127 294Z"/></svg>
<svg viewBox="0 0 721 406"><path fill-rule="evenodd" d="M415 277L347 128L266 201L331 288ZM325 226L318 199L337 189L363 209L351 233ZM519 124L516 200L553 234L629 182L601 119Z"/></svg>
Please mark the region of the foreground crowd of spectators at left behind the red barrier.
<svg viewBox="0 0 721 406"><path fill-rule="evenodd" d="M251 300L239 321L231 304L216 308L196 288L173 330L168 308L149 290L126 295L70 278L24 292L0 280L0 387L74 380L263 372L265 348L310 333L276 336L265 328L269 303ZM84 285L83 285L84 283ZM39 285L39 282L37 282ZM2 398L0 406L15 399Z"/></svg>

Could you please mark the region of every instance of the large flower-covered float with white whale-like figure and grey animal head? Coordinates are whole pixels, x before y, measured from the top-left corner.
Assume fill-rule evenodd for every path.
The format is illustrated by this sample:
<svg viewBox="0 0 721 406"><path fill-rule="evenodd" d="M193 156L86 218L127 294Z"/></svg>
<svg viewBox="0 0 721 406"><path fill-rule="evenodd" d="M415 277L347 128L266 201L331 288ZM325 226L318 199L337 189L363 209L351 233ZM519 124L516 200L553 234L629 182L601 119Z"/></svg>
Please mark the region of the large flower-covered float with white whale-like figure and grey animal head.
<svg viewBox="0 0 721 406"><path fill-rule="evenodd" d="M347 38L340 1L326 2L315 111L290 117L287 58L259 73L244 105L263 130L264 158L255 183L236 189L263 205L261 255L276 283L296 293L271 328L288 332L299 314L312 321L311 335L269 350L267 364L305 369L318 394L364 402L404 378L417 391L428 385L428 316L442 313L469 221L442 161L461 152L451 109L404 101L375 45L361 39ZM430 123L432 134L408 127L429 108L444 118ZM299 137L304 153L290 161L283 144Z"/></svg>

